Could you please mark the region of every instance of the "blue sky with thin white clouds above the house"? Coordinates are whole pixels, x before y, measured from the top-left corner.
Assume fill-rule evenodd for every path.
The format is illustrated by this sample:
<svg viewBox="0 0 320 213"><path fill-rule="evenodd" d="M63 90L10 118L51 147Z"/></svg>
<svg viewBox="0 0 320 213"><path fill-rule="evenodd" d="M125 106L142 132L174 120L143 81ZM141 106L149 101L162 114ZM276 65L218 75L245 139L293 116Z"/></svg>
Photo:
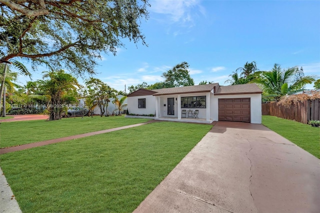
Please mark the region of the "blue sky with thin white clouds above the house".
<svg viewBox="0 0 320 213"><path fill-rule="evenodd" d="M118 90L161 74L186 61L195 84L224 81L246 61L260 70L274 63L302 66L320 77L320 1L149 0L141 30L148 46L123 40L116 56L102 54L95 77ZM39 67L33 79L40 78ZM78 79L80 83L83 79ZM25 78L21 77L24 83ZM308 84L307 88L312 88Z"/></svg>

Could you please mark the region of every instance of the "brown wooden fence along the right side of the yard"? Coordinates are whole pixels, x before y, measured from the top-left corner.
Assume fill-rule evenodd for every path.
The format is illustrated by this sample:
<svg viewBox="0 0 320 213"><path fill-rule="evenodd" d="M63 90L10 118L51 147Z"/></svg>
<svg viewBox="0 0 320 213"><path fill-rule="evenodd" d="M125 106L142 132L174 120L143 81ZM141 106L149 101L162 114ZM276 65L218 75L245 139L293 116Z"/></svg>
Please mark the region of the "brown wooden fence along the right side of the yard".
<svg viewBox="0 0 320 213"><path fill-rule="evenodd" d="M292 101L290 106L276 104L276 102L262 103L262 115L277 116L301 123L320 120L320 99Z"/></svg>

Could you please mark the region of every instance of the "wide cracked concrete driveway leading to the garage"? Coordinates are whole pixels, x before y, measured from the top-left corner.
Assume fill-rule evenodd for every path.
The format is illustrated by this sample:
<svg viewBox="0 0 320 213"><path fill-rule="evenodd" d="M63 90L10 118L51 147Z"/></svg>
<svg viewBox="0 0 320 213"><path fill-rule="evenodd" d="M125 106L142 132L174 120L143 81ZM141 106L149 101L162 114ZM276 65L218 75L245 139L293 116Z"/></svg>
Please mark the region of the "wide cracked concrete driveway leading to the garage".
<svg viewBox="0 0 320 213"><path fill-rule="evenodd" d="M261 124L219 121L134 212L320 212L320 159Z"/></svg>

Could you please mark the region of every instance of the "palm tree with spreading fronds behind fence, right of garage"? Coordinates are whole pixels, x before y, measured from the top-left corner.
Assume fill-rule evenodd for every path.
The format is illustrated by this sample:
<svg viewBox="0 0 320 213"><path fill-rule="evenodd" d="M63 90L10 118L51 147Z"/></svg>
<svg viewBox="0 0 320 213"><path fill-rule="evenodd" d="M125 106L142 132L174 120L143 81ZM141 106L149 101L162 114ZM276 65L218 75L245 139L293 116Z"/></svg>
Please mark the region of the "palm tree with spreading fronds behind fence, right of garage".
<svg viewBox="0 0 320 213"><path fill-rule="evenodd" d="M270 71L258 72L259 77L252 80L264 92L265 95L272 96L277 101L285 94L294 93L301 86L312 83L314 76L307 75L299 80L292 80L296 67L281 69L279 64L274 64Z"/></svg>

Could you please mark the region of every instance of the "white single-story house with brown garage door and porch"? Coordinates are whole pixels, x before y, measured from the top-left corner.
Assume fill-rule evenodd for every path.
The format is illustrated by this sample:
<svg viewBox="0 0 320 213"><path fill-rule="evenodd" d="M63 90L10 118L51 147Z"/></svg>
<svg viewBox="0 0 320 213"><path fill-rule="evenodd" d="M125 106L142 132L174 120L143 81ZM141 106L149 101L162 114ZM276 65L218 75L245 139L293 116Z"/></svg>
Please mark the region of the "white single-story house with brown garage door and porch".
<svg viewBox="0 0 320 213"><path fill-rule="evenodd" d="M127 95L127 109L129 114L154 114L157 120L261 123L261 93L255 83L141 88Z"/></svg>

